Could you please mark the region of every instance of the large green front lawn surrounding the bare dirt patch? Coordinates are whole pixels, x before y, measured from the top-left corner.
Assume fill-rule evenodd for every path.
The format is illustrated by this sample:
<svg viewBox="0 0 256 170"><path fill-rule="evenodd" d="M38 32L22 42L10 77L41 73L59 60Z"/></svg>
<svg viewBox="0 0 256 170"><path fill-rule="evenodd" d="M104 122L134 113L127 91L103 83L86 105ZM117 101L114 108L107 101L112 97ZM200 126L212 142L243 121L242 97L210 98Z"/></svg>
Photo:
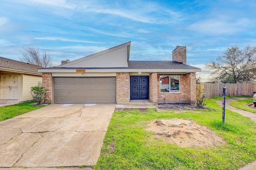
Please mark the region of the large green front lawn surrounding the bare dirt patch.
<svg viewBox="0 0 256 170"><path fill-rule="evenodd" d="M216 97L206 100L208 110L200 113L186 111L138 110L118 111L113 114L104 138L100 158L94 170L235 170L256 159L256 124L249 118L226 110L222 123L222 107ZM227 143L215 148L181 148L153 137L146 130L155 119L193 119L215 131Z"/></svg>

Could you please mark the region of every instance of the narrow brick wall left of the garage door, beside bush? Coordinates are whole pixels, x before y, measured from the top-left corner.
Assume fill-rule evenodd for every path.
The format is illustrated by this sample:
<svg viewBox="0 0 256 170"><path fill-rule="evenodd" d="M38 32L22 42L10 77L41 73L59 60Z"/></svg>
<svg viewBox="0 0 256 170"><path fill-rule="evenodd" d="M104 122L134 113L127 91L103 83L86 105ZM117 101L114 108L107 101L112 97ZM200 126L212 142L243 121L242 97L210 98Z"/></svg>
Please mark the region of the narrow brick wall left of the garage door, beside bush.
<svg viewBox="0 0 256 170"><path fill-rule="evenodd" d="M52 103L52 73L42 73L42 85L47 90L46 103Z"/></svg>

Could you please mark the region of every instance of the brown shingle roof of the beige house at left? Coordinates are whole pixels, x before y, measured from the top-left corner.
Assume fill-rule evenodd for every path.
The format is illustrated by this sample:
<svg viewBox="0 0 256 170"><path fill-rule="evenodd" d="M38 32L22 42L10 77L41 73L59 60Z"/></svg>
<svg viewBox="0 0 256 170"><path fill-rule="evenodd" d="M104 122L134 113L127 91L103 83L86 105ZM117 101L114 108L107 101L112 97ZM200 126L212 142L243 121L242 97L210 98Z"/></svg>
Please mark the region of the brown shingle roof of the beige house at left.
<svg viewBox="0 0 256 170"><path fill-rule="evenodd" d="M37 66L34 64L24 63L12 59L6 59L4 57L0 57L0 67L6 68L6 70L15 69L20 72L34 72L36 74L40 74L38 73L38 68L44 68L42 66Z"/></svg>

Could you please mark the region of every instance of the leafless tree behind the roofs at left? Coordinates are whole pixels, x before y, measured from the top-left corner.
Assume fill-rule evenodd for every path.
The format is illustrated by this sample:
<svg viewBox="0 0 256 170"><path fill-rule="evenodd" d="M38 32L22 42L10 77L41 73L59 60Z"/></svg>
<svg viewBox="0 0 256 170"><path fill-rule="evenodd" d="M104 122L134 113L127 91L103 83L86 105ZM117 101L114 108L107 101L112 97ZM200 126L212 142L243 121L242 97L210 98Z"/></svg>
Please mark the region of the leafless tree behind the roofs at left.
<svg viewBox="0 0 256 170"><path fill-rule="evenodd" d="M25 51L22 53L22 57L20 57L21 61L42 67L54 66L54 61L49 51L42 51L42 55L40 55L38 49L35 49L34 47L23 49Z"/></svg>

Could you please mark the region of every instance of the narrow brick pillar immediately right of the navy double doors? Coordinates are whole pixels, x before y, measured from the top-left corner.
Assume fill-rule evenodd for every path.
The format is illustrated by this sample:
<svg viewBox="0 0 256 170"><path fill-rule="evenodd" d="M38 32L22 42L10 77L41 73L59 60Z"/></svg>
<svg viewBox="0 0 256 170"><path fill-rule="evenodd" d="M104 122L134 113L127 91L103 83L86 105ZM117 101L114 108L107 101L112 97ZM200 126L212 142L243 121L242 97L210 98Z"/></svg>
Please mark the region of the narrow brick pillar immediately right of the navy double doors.
<svg viewBox="0 0 256 170"><path fill-rule="evenodd" d="M149 75L149 100L152 103L158 102L158 86L157 86L157 73L152 72Z"/></svg>

